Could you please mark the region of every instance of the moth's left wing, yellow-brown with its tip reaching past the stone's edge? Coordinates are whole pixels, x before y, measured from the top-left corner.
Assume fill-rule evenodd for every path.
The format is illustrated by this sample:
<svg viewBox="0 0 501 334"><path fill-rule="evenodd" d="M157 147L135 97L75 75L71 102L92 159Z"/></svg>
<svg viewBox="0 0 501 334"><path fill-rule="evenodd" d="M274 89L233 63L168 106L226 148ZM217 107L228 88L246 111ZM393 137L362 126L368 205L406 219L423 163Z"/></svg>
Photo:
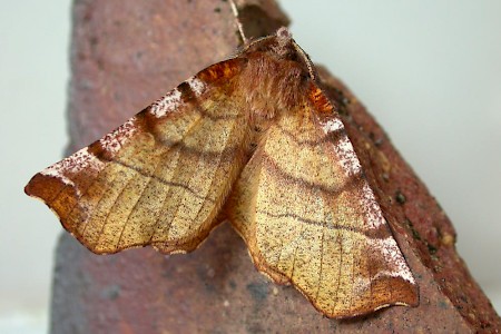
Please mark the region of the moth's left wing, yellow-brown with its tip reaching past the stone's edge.
<svg viewBox="0 0 501 334"><path fill-rule="evenodd" d="M228 96L240 65L214 65L100 140L37 174L26 193L95 253L194 249L244 164L248 117Z"/></svg>

